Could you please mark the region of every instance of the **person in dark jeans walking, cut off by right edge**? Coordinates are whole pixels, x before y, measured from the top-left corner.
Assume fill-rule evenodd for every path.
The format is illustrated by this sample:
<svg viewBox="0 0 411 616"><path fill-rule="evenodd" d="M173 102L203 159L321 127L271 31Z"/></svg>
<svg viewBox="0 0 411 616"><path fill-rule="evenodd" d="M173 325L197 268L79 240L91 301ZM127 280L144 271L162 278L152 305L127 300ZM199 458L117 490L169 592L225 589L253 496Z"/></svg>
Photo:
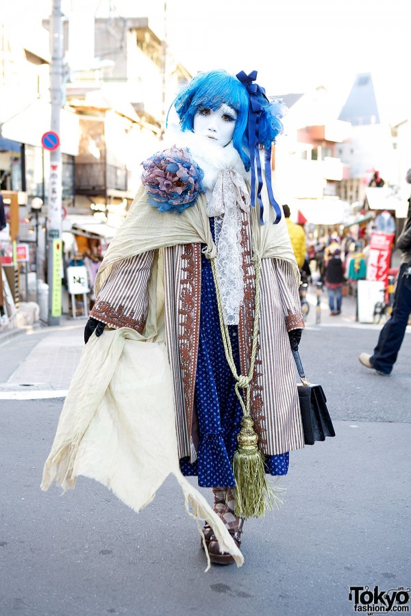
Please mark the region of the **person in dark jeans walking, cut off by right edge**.
<svg viewBox="0 0 411 616"><path fill-rule="evenodd" d="M408 169L406 179L411 184L411 169ZM411 313L411 197L408 199L406 224L397 240L396 248L399 248L403 254L397 277L393 311L379 333L373 355L361 353L358 357L360 363L366 368L376 370L377 374L384 376L391 373L397 361Z"/></svg>

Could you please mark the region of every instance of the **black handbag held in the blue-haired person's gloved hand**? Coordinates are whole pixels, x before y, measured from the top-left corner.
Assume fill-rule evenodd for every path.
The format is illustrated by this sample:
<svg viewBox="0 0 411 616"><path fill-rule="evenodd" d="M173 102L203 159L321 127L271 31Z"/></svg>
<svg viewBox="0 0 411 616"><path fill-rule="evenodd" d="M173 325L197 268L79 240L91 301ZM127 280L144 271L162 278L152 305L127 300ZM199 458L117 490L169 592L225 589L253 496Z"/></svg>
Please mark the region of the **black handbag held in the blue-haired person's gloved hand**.
<svg viewBox="0 0 411 616"><path fill-rule="evenodd" d="M315 441L325 441L325 437L336 435L327 409L327 398L321 385L307 381L298 350L292 350L297 370L301 378L298 383L298 397L303 421L304 443L314 445Z"/></svg>

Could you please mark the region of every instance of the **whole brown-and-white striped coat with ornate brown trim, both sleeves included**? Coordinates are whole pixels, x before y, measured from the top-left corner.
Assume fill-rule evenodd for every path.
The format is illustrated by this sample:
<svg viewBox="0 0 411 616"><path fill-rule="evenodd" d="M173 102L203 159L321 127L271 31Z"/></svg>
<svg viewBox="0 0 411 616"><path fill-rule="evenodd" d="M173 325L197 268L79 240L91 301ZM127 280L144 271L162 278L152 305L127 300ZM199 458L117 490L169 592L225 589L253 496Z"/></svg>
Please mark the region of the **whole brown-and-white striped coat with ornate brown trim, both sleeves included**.
<svg viewBox="0 0 411 616"><path fill-rule="evenodd" d="M245 300L240 310L238 337L242 374L248 372L254 307L250 226L243 221ZM144 330L150 309L147 285L153 252L114 264L103 284L92 316L119 327ZM174 383L174 407L179 457L197 457L194 405L199 344L201 244L164 248L165 342ZM303 447L303 431L295 372L287 331L303 327L297 281L292 266L282 259L262 259L260 333L253 382L251 413L264 454ZM250 334L251 332L251 334Z"/></svg>

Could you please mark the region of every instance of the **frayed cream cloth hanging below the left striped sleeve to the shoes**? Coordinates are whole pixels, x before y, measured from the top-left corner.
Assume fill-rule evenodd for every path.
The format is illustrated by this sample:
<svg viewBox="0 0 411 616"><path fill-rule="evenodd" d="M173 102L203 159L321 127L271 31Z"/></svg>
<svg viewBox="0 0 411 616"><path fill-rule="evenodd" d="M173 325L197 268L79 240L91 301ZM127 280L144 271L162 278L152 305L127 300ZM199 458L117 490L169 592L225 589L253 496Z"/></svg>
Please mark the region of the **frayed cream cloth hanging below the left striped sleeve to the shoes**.
<svg viewBox="0 0 411 616"><path fill-rule="evenodd" d="M127 328L105 331L99 338L93 334L64 402L41 488L54 482L64 491L73 489L83 475L140 511L169 474L182 488L188 513L197 524L207 520L221 548L242 565L242 554L220 517L179 471L164 344L147 344Z"/></svg>

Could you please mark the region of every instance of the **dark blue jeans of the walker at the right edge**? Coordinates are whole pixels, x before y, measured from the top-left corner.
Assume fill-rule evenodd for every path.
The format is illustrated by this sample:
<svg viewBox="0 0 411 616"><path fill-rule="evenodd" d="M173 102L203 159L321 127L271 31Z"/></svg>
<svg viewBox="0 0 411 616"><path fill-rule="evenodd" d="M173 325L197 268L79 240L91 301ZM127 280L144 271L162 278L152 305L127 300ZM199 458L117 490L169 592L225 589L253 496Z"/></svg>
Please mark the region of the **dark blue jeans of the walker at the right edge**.
<svg viewBox="0 0 411 616"><path fill-rule="evenodd" d="M411 312L411 276L403 275L409 266L403 263L399 268L393 311L390 319L380 331L377 346L370 357L373 368L384 374L390 374L397 361Z"/></svg>

